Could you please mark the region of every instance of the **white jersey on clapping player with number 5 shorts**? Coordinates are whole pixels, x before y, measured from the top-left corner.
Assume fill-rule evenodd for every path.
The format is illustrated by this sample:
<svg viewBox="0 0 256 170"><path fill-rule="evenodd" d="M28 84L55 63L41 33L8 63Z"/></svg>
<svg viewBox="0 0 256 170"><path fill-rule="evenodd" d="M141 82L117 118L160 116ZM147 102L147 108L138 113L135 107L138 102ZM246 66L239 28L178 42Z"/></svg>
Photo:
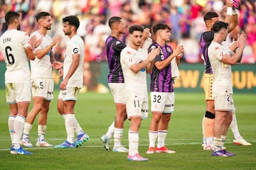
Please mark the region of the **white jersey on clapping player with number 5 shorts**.
<svg viewBox="0 0 256 170"><path fill-rule="evenodd" d="M45 49L52 41L49 35L44 36L38 31L32 33L31 37L33 35L36 35L36 40L43 38L41 44L36 47L35 51ZM31 79L37 77L53 78L52 66L50 63L50 51L41 59L36 57L35 60L31 60Z"/></svg>

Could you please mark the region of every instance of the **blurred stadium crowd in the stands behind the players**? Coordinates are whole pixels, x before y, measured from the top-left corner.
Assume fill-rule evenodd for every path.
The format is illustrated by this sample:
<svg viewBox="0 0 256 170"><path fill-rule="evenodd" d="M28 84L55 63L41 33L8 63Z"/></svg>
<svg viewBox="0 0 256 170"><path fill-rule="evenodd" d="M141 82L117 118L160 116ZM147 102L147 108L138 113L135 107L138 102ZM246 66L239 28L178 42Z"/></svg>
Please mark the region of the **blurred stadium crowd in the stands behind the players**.
<svg viewBox="0 0 256 170"><path fill-rule="evenodd" d="M223 10L224 8L224 10ZM244 52L244 63L256 61L256 1L241 1L239 8L239 26L230 34L228 42L237 38L241 30L247 34L247 47ZM29 35L38 26L35 15L39 11L52 14L53 26L50 36L60 35L61 43L55 46L55 59L63 60L65 36L61 30L61 19L68 15L80 18L78 35L85 40L85 62L106 61L105 39L110 35L107 19L120 16L127 21L127 26L137 23L149 27L154 23L167 23L172 28L174 43L184 45L186 62L202 62L198 48L193 45L199 42L199 36L206 30L203 15L215 11L223 18L225 4L222 0L1 0L0 30L6 30L4 15L6 11L17 11L22 14L21 30ZM124 35L123 41L127 35ZM1 60L3 57L0 55Z"/></svg>

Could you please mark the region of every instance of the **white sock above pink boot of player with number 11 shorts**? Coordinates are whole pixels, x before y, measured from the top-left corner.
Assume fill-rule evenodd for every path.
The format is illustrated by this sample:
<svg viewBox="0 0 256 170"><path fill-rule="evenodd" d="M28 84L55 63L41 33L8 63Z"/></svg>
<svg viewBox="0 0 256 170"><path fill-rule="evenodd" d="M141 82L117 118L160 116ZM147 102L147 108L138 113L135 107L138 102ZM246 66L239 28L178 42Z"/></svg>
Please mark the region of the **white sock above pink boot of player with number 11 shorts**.
<svg viewBox="0 0 256 170"><path fill-rule="evenodd" d="M139 151L139 132L134 132L129 130L128 132L128 141L129 141L129 155L134 156L138 154Z"/></svg>

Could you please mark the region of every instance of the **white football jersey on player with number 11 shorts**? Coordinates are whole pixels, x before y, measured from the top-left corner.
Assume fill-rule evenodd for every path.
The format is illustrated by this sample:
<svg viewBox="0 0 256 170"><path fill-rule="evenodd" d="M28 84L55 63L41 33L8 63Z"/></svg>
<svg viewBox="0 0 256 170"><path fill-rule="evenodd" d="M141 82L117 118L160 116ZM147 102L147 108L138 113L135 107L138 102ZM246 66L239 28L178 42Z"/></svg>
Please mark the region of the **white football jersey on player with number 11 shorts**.
<svg viewBox="0 0 256 170"><path fill-rule="evenodd" d="M134 50L127 46L121 52L120 62L124 74L125 96L127 99L137 96L142 101L147 101L146 68L137 73L132 72L132 69L130 69L132 65L146 59L147 54L141 48Z"/></svg>

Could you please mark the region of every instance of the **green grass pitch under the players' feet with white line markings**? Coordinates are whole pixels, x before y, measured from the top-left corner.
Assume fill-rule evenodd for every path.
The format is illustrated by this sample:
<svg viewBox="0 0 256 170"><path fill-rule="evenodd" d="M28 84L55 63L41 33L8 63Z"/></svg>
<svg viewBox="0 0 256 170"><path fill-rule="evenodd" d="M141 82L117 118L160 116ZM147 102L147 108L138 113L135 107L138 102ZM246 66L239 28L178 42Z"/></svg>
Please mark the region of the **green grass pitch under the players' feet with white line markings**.
<svg viewBox="0 0 256 170"><path fill-rule="evenodd" d="M90 140L75 149L31 148L33 155L12 155L7 119L9 106L5 91L0 91L0 169L256 169L256 95L234 94L236 116L241 135L251 147L233 145L233 134L228 131L225 147L235 152L234 157L212 157L210 151L201 147L201 122L206 109L204 94L176 92L175 113L171 116L166 147L176 154L151 154L146 150L149 144L148 130L151 120L142 121L139 131L139 153L149 162L129 162L126 153L107 152L100 137L107 132L114 120L114 103L111 94L88 92L79 95L75 115L81 127L90 135ZM65 140L63 118L57 112L58 91L50 104L46 140L58 145ZM31 103L32 106L32 103ZM30 108L31 108L30 106ZM30 110L30 109L29 109ZM30 139L36 145L37 125L33 123ZM129 121L125 122L122 145L128 147Z"/></svg>

